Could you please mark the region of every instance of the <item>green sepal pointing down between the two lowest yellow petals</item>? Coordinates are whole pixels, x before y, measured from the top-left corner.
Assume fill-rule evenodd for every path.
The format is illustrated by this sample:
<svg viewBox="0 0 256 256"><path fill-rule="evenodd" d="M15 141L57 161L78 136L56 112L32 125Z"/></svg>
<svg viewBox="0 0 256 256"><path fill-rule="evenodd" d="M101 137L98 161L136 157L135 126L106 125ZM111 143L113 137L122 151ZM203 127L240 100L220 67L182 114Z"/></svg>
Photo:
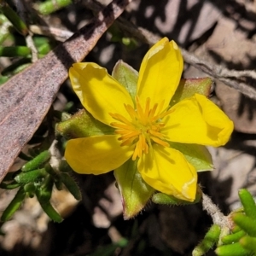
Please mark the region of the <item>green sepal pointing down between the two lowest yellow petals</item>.
<svg viewBox="0 0 256 256"><path fill-rule="evenodd" d="M154 189L143 181L137 171L137 160L127 160L113 174L122 197L124 218L132 218L143 210Z"/></svg>

